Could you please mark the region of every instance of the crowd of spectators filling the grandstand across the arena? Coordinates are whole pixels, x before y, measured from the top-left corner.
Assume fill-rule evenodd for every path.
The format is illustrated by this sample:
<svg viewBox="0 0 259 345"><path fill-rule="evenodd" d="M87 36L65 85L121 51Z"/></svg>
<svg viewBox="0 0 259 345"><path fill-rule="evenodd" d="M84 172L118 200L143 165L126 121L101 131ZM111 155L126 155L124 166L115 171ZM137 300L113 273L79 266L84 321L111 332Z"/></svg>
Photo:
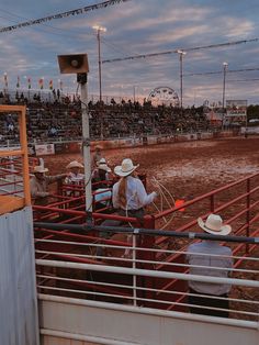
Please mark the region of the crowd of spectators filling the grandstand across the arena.
<svg viewBox="0 0 259 345"><path fill-rule="evenodd" d="M64 96L53 90L43 97L36 92L27 99L23 92L10 97L0 92L0 104L25 104L29 142L79 140L81 137L81 101L78 96ZM109 104L88 104L91 138L132 137L144 135L193 133L210 130L203 107L179 109L170 105L154 107L150 101L111 99ZM14 114L0 116L0 141L16 141L19 126Z"/></svg>

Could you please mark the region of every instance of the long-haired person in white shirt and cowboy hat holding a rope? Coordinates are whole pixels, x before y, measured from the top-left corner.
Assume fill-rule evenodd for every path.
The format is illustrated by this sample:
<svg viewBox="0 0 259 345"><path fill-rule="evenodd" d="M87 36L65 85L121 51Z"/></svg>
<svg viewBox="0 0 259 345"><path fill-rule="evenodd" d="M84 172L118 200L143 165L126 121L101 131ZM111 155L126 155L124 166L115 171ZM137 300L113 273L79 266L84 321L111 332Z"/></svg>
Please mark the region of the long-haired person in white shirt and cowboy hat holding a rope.
<svg viewBox="0 0 259 345"><path fill-rule="evenodd" d="M144 207L157 197L155 191L147 194L143 182L135 175L137 167L132 159L126 158L121 166L114 168L115 175L121 179L113 186L112 201L120 215L143 218Z"/></svg>

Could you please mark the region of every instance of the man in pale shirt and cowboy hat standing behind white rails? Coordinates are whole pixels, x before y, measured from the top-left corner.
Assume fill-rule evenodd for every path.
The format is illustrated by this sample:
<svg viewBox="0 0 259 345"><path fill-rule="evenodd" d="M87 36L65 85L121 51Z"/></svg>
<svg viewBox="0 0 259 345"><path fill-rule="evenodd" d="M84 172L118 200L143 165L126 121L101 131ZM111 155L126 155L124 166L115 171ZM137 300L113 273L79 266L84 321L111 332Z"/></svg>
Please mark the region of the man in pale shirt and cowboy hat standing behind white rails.
<svg viewBox="0 0 259 345"><path fill-rule="evenodd" d="M217 214L210 214L205 222L199 218L198 224L206 233L213 235L228 235L232 231L230 225L224 225L222 218ZM187 249L187 259L191 275L227 278L233 267L232 249L222 246L217 241L202 241L191 244ZM191 313L228 318L230 285L190 280L189 290L191 293L189 303L192 304L190 307Z"/></svg>

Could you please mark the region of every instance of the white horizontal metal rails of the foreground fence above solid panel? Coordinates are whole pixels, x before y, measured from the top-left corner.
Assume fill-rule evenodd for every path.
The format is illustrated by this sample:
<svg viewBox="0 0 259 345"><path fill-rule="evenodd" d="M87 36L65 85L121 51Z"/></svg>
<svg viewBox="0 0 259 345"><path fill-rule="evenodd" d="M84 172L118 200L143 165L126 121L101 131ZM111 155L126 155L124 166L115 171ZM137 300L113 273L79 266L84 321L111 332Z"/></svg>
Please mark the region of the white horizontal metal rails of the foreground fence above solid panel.
<svg viewBox="0 0 259 345"><path fill-rule="evenodd" d="M44 229L43 234L47 234ZM127 232L125 229L123 233L102 231L100 236L80 233L79 236L80 241L77 240L78 234L64 230L35 240L40 293L189 313L192 307L190 297L195 296L189 290L190 281L221 283L232 287L227 297L230 319L259 321L258 246L249 257L244 253L232 255L232 277L222 278L218 277L222 268L216 266L210 267L210 276L191 275L189 270L193 267L185 261L185 251L139 246L144 234L138 229L128 229ZM154 234L147 231L145 236ZM193 233L184 233L182 237L191 243L194 236ZM167 240L173 246L181 237L171 233ZM232 236L229 241L232 246L241 241L259 243L258 237ZM174 259L169 261L168 257L172 256ZM203 254L206 256L209 260L222 259L218 255ZM219 305L207 309L210 312L224 311Z"/></svg>

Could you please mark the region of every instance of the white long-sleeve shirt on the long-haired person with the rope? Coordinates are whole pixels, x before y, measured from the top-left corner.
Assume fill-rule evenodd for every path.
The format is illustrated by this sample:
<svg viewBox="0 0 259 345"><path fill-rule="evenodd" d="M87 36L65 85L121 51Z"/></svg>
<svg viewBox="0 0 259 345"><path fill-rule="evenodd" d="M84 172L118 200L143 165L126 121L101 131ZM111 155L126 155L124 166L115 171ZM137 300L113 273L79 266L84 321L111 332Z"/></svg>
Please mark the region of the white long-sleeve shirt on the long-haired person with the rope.
<svg viewBox="0 0 259 345"><path fill-rule="evenodd" d="M157 193L153 191L151 193L147 193L143 182L133 176L126 177L126 209L127 210L138 210L149 203L156 198ZM123 207L119 202L119 187L120 182L116 182L113 186L112 192L112 203L115 209L123 209Z"/></svg>

